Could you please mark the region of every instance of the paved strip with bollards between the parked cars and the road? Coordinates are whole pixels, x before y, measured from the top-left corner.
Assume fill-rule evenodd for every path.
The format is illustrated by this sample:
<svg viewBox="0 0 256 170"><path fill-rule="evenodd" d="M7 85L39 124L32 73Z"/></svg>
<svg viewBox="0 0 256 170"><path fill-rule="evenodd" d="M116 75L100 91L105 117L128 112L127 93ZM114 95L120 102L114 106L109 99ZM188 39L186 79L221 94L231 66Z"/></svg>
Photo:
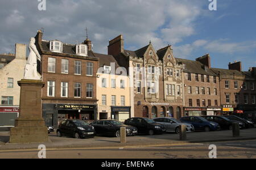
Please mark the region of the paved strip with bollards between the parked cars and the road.
<svg viewBox="0 0 256 170"><path fill-rule="evenodd" d="M49 148L106 148L106 147L153 147L170 146L188 143L209 143L224 142L234 140L253 140L256 139L256 128L240 130L240 137L234 138L232 130L192 132L187 133L187 140L179 140L179 135L165 133L162 135L137 135L127 136L126 143L120 143L119 138L95 136L94 138L75 139L71 137L57 137L56 133L49 134L49 142L30 143L30 144L10 144L10 132L0 132L0 152L4 150L37 150L39 144L44 144Z"/></svg>

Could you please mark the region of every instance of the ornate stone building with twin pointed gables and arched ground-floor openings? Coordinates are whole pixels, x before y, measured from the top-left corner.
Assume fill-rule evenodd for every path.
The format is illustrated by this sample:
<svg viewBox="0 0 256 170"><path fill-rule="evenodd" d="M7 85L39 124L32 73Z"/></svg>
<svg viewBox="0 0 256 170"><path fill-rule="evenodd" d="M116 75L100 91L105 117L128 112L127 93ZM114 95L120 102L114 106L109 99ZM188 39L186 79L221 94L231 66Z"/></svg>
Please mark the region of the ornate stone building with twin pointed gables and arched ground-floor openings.
<svg viewBox="0 0 256 170"><path fill-rule="evenodd" d="M183 65L176 62L171 46L155 51L149 43L136 51L124 49L122 35L109 41L113 55L130 76L131 111L135 117L183 116ZM133 113L131 114L133 115Z"/></svg>

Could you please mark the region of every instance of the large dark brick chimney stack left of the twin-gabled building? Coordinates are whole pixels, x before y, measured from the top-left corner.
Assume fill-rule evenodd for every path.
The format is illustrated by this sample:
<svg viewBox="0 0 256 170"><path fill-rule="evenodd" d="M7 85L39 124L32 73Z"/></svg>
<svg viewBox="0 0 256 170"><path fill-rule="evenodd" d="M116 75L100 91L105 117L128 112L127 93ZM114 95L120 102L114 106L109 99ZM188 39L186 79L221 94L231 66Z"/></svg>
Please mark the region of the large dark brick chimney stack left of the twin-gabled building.
<svg viewBox="0 0 256 170"><path fill-rule="evenodd" d="M116 38L109 41L108 55L117 56L124 51L123 35L119 35Z"/></svg>

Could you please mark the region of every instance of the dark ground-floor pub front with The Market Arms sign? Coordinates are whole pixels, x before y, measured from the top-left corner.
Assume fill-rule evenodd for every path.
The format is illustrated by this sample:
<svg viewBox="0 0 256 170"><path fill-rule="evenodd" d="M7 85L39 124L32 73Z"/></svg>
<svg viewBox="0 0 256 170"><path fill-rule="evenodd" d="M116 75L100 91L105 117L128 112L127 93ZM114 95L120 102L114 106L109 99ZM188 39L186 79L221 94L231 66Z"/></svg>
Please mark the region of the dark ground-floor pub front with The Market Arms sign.
<svg viewBox="0 0 256 170"><path fill-rule="evenodd" d="M97 105L43 104L46 125L57 127L63 119L97 120Z"/></svg>

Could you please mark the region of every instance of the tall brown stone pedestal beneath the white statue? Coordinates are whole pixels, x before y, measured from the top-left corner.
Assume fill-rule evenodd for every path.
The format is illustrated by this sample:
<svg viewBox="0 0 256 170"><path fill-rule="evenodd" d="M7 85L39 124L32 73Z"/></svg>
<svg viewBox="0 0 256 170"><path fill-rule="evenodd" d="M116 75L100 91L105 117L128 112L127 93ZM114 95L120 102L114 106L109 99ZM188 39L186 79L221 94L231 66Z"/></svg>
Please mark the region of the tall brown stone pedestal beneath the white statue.
<svg viewBox="0 0 256 170"><path fill-rule="evenodd" d="M10 143L47 142L48 130L42 117L41 80L20 80L20 113L10 130Z"/></svg>

